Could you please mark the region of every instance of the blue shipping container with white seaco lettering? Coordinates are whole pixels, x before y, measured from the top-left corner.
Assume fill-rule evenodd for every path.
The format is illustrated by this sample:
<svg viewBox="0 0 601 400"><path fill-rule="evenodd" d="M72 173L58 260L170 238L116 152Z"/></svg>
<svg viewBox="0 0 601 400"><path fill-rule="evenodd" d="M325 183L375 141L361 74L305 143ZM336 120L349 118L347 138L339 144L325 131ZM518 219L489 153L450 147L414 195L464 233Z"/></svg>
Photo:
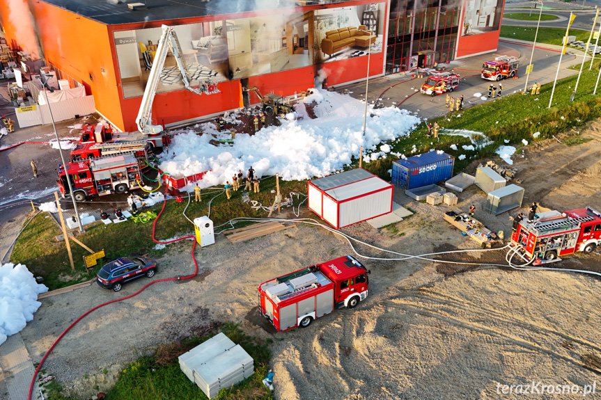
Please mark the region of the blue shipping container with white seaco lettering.
<svg viewBox="0 0 601 400"><path fill-rule="evenodd" d="M428 152L392 163L392 184L400 189L415 189L437 184L453 176L455 157Z"/></svg>

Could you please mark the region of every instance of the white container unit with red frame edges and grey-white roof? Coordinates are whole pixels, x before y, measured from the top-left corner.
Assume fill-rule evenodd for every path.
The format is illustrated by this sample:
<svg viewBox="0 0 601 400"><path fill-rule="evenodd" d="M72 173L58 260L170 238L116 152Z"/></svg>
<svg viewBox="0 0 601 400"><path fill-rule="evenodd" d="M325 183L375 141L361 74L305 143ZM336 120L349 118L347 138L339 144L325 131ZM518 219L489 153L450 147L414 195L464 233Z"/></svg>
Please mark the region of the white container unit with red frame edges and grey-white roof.
<svg viewBox="0 0 601 400"><path fill-rule="evenodd" d="M392 184L357 168L309 181L309 209L336 229L392 211Z"/></svg>

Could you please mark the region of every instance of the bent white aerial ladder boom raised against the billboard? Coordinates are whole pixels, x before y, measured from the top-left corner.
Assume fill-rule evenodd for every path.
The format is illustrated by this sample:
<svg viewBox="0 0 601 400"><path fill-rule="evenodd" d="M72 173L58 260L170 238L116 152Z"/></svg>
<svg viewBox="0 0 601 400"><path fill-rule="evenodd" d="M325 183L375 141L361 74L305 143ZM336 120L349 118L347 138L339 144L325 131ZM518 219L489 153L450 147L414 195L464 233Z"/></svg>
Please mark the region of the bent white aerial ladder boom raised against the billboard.
<svg viewBox="0 0 601 400"><path fill-rule="evenodd" d="M144 90L144 95L142 97L140 111L138 111L138 116L136 118L136 125L138 125L138 129L143 134L148 134L150 136L160 134L163 131L163 127L161 125L153 125L152 113L153 101L155 99L155 95L157 94L157 86L159 85L159 80L161 79L161 72L163 70L163 65L165 63L165 59L167 58L169 49L171 49L171 53L173 53L173 57L175 57L175 62L178 64L178 68L182 73L182 79L184 81L185 88L193 93L196 93L197 95L204 93L201 88L193 88L190 86L190 81L192 81L192 79L188 72L188 67L182 59L183 53L182 47L180 46L180 41L178 40L178 35L175 34L175 31L171 26L163 25L162 29L163 33L159 39L159 45L157 46L157 53L155 54L153 67L150 69L150 75L148 76L148 83L146 83L146 89Z"/></svg>

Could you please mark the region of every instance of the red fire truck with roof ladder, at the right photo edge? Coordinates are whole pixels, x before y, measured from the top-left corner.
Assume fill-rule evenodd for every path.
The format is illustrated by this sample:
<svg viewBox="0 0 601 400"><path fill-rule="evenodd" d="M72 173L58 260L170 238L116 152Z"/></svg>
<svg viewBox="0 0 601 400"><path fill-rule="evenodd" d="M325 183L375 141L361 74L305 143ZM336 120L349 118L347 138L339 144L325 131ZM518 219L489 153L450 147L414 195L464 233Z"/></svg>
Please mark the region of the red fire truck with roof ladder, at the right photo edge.
<svg viewBox="0 0 601 400"><path fill-rule="evenodd" d="M559 256L591 253L601 243L601 214L586 207L561 213L545 211L534 221L522 221L511 234L511 243L522 246L522 255L535 263L559 261Z"/></svg>

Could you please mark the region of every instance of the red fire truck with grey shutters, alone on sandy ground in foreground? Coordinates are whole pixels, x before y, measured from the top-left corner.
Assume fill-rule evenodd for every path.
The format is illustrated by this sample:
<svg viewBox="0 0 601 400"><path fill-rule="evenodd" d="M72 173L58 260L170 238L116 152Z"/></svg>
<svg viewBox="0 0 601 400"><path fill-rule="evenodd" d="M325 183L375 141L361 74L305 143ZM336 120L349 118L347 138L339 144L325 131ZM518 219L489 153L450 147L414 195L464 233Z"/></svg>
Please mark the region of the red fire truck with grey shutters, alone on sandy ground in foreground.
<svg viewBox="0 0 601 400"><path fill-rule="evenodd" d="M262 283L259 310L281 332L306 327L334 307L354 308L368 293L368 271L350 255Z"/></svg>

